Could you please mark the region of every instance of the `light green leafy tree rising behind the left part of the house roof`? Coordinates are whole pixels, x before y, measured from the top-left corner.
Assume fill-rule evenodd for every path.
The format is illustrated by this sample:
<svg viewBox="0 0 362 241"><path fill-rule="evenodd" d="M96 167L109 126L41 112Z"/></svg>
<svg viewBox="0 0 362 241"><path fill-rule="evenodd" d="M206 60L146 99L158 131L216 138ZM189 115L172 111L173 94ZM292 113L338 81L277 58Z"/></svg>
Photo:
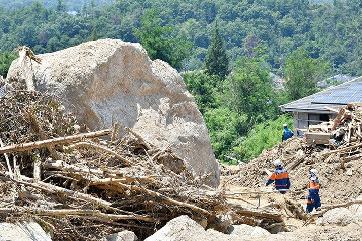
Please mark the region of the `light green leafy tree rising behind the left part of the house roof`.
<svg viewBox="0 0 362 241"><path fill-rule="evenodd" d="M311 58L304 48L299 48L285 61L284 72L286 92L291 100L298 100L317 92L317 82L328 76L330 64Z"/></svg>

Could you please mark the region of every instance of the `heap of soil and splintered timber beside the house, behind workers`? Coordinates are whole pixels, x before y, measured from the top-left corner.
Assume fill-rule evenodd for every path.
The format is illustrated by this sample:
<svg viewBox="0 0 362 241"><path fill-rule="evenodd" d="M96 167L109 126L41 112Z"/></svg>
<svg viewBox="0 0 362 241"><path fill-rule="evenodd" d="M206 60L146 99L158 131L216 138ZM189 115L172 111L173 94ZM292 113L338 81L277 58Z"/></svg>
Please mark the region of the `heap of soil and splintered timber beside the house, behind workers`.
<svg viewBox="0 0 362 241"><path fill-rule="evenodd" d="M278 143L240 166L241 170L230 182L250 188L263 187L274 171L274 160L281 159L291 176L292 189L306 189L308 170L316 168L324 202L355 198L362 193L361 127L362 104L348 104L334 121L312 125L304 138Z"/></svg>

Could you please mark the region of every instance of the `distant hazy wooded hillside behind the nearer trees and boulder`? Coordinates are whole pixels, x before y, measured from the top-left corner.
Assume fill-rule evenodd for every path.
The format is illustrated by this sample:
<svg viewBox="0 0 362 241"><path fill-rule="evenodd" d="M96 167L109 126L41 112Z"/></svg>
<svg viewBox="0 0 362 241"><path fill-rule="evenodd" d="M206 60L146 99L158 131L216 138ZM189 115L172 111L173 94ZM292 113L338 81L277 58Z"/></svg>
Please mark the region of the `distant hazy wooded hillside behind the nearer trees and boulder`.
<svg viewBox="0 0 362 241"><path fill-rule="evenodd" d="M192 56L186 61L189 70L202 67L217 20L232 61L260 46L267 49L266 62L277 70L290 53L303 47L312 58L335 64L337 73L362 75L359 0L334 0L332 4L305 0L117 0L99 7L97 4L112 1L62 1L66 6L78 6L75 16L57 11L58 0L43 1L53 8L40 0L24 8L16 3L25 6L30 0L0 1L0 6L20 7L0 7L0 51L18 44L37 53L56 51L88 41L94 28L98 38L137 42L134 28L140 27L140 16L147 9L156 9L161 26L172 27L173 38L185 36L193 44Z"/></svg>

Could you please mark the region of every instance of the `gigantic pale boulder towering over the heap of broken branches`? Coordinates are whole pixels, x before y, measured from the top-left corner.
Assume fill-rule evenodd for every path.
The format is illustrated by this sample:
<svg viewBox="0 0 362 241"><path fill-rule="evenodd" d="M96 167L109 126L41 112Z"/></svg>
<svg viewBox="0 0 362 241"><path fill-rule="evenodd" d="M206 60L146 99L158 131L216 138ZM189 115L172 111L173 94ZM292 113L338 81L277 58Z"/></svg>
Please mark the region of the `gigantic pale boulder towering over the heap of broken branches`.
<svg viewBox="0 0 362 241"><path fill-rule="evenodd" d="M139 44L117 39L39 57L41 65L32 62L35 86L70 101L63 104L80 123L100 129L119 120L151 144L173 144L194 176L210 173L206 183L218 186L219 165L204 119L182 77L167 63L152 61ZM21 76L17 61L8 73L12 83Z"/></svg>

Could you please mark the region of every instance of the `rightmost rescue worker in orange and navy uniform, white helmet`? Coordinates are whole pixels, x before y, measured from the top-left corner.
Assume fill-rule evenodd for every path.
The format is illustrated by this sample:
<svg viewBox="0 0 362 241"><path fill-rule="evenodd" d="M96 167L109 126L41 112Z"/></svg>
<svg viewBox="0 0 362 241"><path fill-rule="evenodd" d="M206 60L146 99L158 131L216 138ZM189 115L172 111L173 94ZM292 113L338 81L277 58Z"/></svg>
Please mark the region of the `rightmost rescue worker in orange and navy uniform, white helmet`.
<svg viewBox="0 0 362 241"><path fill-rule="evenodd" d="M309 184L308 188L314 187L313 189L309 190L309 196L307 200L307 208L306 212L310 213L313 211L313 208L315 208L316 211L320 211L320 207L322 204L320 203L319 198L319 180L317 178L318 171L316 169L311 169L309 171Z"/></svg>

